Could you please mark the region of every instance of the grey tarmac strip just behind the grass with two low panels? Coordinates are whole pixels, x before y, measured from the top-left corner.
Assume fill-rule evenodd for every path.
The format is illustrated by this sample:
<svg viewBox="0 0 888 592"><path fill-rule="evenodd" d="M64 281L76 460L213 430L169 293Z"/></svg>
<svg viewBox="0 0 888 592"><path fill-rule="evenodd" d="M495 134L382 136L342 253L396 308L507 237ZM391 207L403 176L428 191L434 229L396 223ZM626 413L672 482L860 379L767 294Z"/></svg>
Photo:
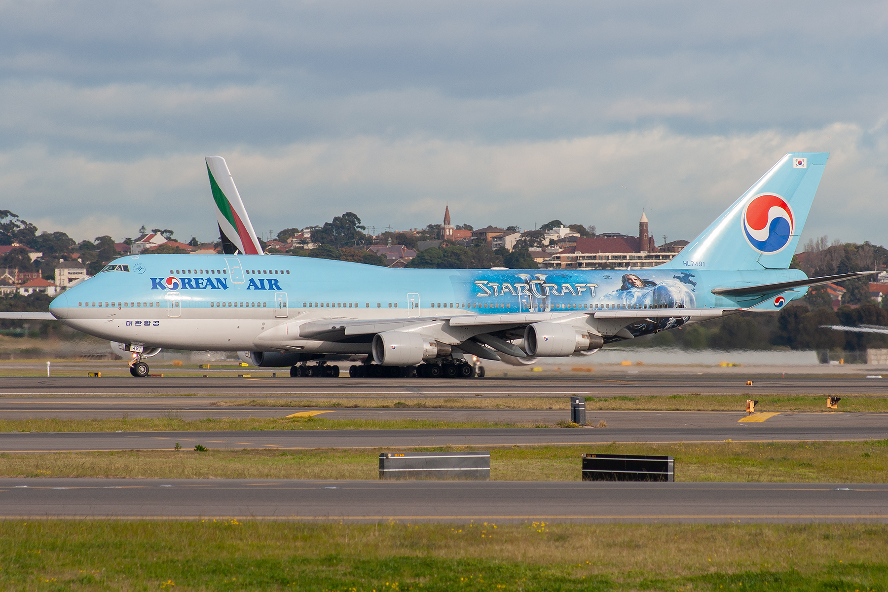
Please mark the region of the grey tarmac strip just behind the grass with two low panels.
<svg viewBox="0 0 888 592"><path fill-rule="evenodd" d="M349 410L337 413L353 413ZM369 410L372 411L372 410ZM385 410L391 412L393 410ZM416 414L418 410L399 410ZM367 413L367 410L363 410ZM498 410L492 410L497 413ZM422 413L422 412L420 412ZM561 411L560 414L566 414ZM248 430L132 432L3 432L0 453L170 450L178 442L210 449L412 448L425 446L596 445L610 442L851 441L888 438L881 414L595 412L607 428L439 430Z"/></svg>

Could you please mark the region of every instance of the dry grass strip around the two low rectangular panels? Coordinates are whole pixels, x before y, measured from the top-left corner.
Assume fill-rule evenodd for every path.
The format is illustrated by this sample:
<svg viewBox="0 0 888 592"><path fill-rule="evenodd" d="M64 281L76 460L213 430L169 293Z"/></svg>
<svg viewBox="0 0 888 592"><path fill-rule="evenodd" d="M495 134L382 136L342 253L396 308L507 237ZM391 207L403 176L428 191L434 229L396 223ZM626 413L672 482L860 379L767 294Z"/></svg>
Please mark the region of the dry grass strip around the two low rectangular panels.
<svg viewBox="0 0 888 592"><path fill-rule="evenodd" d="M375 479L380 452L384 449L6 453L0 454L0 477ZM676 481L888 480L888 440L490 448L490 477L578 481L585 452L668 454L676 459Z"/></svg>

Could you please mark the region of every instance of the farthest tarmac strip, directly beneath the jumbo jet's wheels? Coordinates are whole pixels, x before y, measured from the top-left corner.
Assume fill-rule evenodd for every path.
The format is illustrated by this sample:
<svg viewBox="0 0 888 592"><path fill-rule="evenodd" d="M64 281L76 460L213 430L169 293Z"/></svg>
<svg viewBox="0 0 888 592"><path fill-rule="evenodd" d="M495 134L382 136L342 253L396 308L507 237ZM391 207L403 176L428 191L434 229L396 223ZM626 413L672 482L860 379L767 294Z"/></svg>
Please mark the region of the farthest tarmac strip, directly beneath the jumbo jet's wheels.
<svg viewBox="0 0 888 592"><path fill-rule="evenodd" d="M733 369L733 368L732 368ZM591 375L516 376L483 379L391 379L391 378L290 378L270 376L265 371L248 371L250 377L165 376L126 377L35 377L7 376L0 379L0 397L34 395L229 395L259 397L325 398L352 397L565 397L583 394L612 397L673 394L737 395L779 394L875 394L888 396L888 378L860 375L810 375L757 377L754 375ZM888 376L888 375L886 375ZM751 378L753 385L746 385Z"/></svg>

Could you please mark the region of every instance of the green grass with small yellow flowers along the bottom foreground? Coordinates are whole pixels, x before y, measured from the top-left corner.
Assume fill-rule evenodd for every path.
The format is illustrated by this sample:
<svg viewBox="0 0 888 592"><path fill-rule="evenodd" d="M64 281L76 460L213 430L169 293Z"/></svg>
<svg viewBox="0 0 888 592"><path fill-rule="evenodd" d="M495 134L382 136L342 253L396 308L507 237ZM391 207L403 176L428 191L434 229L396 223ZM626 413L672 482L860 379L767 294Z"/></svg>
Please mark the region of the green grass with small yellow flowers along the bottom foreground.
<svg viewBox="0 0 888 592"><path fill-rule="evenodd" d="M884 590L883 525L6 521L16 590Z"/></svg>

